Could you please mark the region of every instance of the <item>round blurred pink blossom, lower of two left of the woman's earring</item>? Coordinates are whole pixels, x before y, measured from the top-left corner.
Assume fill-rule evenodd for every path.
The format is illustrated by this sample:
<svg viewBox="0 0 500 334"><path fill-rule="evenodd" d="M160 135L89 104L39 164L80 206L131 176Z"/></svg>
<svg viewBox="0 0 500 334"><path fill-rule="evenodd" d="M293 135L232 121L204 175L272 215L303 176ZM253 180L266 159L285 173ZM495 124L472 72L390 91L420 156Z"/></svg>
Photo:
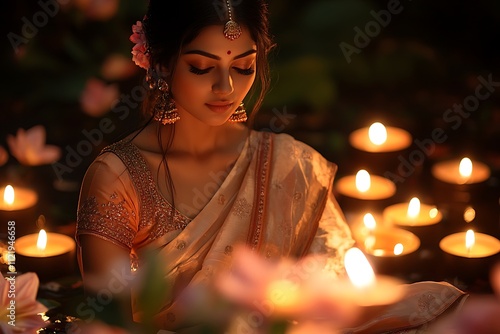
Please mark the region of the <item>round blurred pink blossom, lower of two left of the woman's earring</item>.
<svg viewBox="0 0 500 334"><path fill-rule="evenodd" d="M106 85L102 80L89 79L80 96L82 110L92 117L100 117L111 109L119 95L117 85Z"/></svg>

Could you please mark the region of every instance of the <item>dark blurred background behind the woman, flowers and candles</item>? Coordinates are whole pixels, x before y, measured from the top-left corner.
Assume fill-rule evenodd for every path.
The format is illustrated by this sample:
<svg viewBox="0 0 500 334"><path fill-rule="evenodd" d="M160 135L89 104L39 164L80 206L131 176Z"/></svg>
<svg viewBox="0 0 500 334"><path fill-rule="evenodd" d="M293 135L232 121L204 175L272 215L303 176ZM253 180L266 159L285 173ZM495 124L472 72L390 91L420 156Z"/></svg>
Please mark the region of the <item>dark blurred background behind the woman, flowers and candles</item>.
<svg viewBox="0 0 500 334"><path fill-rule="evenodd" d="M97 129L104 118L116 126L62 178L51 165L23 166L13 156L0 166L2 184L17 182L35 188L43 194L39 213L51 224L69 226L69 233L88 164L139 119L138 109L124 120L111 112L89 116L82 110L80 95L93 77L117 84L123 94L142 83L141 71L110 80L103 78L101 67L110 54L130 57L131 25L141 19L146 7L144 1L122 0L117 12L102 20L90 18L78 2L82 1L61 7L18 53L9 33L20 35L23 17L32 22L40 4L4 1L0 23L0 145L8 149L8 134L42 124L47 142L63 149L60 162L64 163L68 147L76 148L86 140L83 131ZM366 33L367 24L376 22L372 11L380 16L397 3L399 12L390 16L387 26L378 25L380 31L372 32L366 45L356 45L357 31ZM392 201L421 192L446 211L448 232L462 230L461 210L475 205L481 230L499 235L500 87L457 129L443 119L446 110L475 93L480 76L500 82L499 2L275 0L270 9L277 42L271 56L273 84L256 128L287 132L308 143L339 165L339 176L355 171L356 152L347 137L361 126L379 120L405 128L421 140L442 128L447 140L436 143L408 182L399 185ZM359 52L348 61L341 43L357 46ZM466 189L465 197L463 189L445 189L443 195L428 171L441 159L461 155L487 163L492 177L482 189ZM452 195L457 191L459 195ZM427 278L417 278L421 277Z"/></svg>

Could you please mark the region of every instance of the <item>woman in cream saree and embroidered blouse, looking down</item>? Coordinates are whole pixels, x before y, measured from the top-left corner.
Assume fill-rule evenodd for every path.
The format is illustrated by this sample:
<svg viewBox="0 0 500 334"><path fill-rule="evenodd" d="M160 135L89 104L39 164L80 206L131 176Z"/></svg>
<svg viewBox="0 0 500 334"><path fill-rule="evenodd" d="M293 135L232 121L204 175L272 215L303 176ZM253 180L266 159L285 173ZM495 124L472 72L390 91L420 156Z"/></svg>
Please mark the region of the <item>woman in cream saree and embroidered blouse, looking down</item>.
<svg viewBox="0 0 500 334"><path fill-rule="evenodd" d="M353 241L331 191L336 166L288 135L242 123L242 101L257 91L255 116L268 86L267 14L260 0L151 0L134 26L134 60L151 87L148 121L94 161L79 202L79 260L100 309L131 298L135 321L153 312L158 328L196 328L215 305L200 291L239 244L268 259L326 253L332 275L343 274ZM123 271L148 263L168 288L154 310ZM443 309L463 296L446 290Z"/></svg>

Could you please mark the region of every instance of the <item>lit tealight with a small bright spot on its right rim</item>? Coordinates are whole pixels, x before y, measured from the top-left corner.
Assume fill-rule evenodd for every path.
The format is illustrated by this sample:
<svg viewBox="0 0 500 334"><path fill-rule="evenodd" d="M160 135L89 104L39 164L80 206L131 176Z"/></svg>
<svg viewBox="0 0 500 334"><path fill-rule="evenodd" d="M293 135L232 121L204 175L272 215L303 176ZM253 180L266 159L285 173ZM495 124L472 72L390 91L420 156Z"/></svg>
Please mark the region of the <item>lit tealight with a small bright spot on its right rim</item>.
<svg viewBox="0 0 500 334"><path fill-rule="evenodd" d="M389 223L400 226L434 225L443 219L443 215L435 206L422 204L418 197L413 197L409 203L388 206L382 215Z"/></svg>

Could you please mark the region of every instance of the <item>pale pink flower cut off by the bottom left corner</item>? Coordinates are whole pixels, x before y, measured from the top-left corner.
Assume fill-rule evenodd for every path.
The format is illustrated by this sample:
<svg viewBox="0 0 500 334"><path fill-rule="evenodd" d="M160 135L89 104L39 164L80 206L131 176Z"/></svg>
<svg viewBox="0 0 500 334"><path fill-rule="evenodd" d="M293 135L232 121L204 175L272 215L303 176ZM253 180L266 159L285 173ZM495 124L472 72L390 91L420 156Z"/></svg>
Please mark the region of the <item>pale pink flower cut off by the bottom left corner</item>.
<svg viewBox="0 0 500 334"><path fill-rule="evenodd" d="M36 333L44 326L40 313L47 308L36 301L38 276L25 273L4 278L0 273L1 333Z"/></svg>

